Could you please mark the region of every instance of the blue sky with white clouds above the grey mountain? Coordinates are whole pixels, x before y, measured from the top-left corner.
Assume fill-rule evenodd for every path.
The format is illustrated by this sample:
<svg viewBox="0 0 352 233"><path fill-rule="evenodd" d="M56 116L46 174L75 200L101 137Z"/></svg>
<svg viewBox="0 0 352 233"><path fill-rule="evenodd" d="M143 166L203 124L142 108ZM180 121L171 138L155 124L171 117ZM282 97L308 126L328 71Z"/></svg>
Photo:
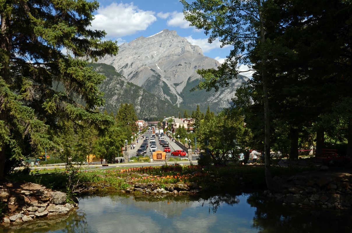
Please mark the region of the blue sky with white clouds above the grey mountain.
<svg viewBox="0 0 352 233"><path fill-rule="evenodd" d="M183 5L178 0L98 1L100 7L95 12L92 29L105 30L106 39L118 40L118 44L169 29L200 46L205 56L220 63L230 53L231 46L221 49L218 40L209 44L204 31L189 26L183 19Z"/></svg>

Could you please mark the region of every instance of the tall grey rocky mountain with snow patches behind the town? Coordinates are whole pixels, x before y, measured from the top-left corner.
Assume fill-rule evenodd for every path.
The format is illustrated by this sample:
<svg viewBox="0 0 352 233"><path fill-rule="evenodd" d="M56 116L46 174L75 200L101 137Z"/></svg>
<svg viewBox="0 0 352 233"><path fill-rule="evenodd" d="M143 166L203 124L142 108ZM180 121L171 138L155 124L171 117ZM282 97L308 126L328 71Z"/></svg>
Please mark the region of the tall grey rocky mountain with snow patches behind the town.
<svg viewBox="0 0 352 233"><path fill-rule="evenodd" d="M199 46L191 45L176 31L168 29L124 43L119 46L117 56L105 56L98 62L112 65L126 81L161 100L186 109L196 109L199 104L202 111L208 105L215 112L229 106L235 89L247 80L239 76L230 82L230 87L219 92L189 92L201 78L196 70L217 68L220 63L204 56Z"/></svg>

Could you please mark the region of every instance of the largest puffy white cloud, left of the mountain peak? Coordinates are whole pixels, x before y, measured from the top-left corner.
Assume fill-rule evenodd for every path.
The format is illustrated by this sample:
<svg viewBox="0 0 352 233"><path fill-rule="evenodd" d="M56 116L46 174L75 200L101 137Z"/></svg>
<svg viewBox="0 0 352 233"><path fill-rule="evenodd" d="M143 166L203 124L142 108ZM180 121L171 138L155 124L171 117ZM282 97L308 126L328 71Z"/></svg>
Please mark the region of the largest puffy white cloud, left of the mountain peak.
<svg viewBox="0 0 352 233"><path fill-rule="evenodd" d="M112 3L98 9L91 29L105 30L108 38L131 35L146 30L156 21L153 11L143 11L131 4Z"/></svg>

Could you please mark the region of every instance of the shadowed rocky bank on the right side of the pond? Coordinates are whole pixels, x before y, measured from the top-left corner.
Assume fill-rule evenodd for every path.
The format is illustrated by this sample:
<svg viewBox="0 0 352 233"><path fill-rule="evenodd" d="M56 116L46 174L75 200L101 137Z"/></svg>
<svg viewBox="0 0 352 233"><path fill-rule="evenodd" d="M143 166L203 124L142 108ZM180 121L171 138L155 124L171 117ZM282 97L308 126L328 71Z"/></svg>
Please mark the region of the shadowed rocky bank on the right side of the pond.
<svg viewBox="0 0 352 233"><path fill-rule="evenodd" d="M264 195L283 206L303 208L350 209L352 206L352 174L316 171L287 178L274 177L275 191Z"/></svg>

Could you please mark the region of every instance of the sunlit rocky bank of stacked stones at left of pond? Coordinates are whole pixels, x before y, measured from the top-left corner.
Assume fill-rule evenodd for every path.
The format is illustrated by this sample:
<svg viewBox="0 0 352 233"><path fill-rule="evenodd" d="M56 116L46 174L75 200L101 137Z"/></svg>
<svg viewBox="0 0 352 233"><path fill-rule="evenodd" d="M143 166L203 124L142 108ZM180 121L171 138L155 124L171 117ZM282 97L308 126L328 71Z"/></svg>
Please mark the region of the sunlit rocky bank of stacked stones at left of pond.
<svg viewBox="0 0 352 233"><path fill-rule="evenodd" d="M43 217L68 214L76 209L76 203L68 203L65 193L33 183L0 185L0 201L7 203L7 216L3 225L20 224Z"/></svg>

